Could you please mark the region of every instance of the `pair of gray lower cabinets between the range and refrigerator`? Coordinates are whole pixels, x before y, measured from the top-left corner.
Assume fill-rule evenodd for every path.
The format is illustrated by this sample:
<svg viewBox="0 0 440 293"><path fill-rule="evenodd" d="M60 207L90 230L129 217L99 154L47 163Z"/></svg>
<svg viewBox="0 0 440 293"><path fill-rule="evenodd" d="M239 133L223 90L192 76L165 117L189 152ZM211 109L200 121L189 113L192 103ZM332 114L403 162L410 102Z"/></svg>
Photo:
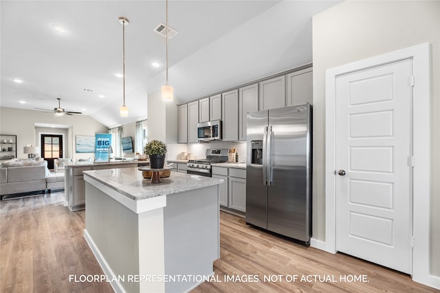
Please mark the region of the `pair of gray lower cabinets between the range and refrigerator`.
<svg viewBox="0 0 440 293"><path fill-rule="evenodd" d="M212 166L212 178L225 180L219 185L219 201L223 207L246 211L246 170Z"/></svg>

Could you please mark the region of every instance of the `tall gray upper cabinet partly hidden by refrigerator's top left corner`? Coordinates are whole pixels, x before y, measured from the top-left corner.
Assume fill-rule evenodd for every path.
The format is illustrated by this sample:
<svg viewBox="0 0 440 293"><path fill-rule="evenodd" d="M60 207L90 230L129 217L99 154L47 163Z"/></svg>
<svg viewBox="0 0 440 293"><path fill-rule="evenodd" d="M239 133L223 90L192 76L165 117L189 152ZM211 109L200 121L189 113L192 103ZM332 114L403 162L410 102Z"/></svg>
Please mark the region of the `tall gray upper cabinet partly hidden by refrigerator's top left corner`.
<svg viewBox="0 0 440 293"><path fill-rule="evenodd" d="M246 115L259 110L259 84L239 89L239 140L246 140Z"/></svg>

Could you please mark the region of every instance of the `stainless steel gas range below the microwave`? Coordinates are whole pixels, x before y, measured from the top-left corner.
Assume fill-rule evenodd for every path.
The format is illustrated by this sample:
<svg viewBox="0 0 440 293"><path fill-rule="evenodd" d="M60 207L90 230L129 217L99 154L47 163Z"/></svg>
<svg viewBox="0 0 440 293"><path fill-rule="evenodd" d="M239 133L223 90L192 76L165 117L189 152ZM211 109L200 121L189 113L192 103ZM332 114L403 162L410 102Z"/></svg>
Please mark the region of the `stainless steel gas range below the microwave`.
<svg viewBox="0 0 440 293"><path fill-rule="evenodd" d="M208 148L206 150L206 159L188 161L186 164L188 166L186 174L211 177L211 164L228 161L228 152L229 150L227 148Z"/></svg>

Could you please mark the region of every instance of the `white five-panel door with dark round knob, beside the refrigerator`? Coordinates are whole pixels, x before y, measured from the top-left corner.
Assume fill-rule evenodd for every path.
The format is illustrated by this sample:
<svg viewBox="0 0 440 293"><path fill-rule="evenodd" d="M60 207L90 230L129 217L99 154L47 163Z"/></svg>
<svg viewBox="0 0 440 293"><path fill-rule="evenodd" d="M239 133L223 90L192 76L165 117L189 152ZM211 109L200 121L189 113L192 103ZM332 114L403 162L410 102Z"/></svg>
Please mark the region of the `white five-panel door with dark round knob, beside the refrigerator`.
<svg viewBox="0 0 440 293"><path fill-rule="evenodd" d="M411 105L412 59L336 78L336 250L406 273Z"/></svg>

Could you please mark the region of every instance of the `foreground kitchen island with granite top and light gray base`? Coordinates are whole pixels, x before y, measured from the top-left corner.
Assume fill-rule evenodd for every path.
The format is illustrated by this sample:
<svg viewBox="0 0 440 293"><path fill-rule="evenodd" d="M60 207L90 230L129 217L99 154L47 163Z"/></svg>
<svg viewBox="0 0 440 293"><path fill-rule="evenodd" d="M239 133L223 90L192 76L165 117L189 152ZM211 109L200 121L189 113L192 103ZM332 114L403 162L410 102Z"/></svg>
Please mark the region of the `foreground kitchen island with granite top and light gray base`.
<svg viewBox="0 0 440 293"><path fill-rule="evenodd" d="M137 168L85 171L85 239L115 292L188 292L219 258L223 180Z"/></svg>

